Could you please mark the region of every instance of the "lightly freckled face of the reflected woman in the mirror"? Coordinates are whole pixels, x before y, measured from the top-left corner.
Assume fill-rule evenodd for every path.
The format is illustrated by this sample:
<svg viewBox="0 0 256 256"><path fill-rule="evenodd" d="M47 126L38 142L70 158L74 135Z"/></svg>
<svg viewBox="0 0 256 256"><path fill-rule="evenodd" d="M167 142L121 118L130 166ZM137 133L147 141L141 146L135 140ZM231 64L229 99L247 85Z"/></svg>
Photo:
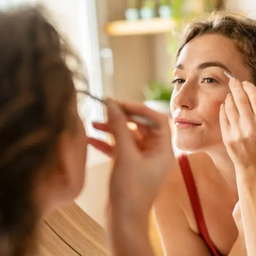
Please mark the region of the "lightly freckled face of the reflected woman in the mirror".
<svg viewBox="0 0 256 256"><path fill-rule="evenodd" d="M251 81L243 56L229 38L206 34L193 38L181 50L171 99L178 148L207 151L223 145L219 110L230 92L223 71L240 81Z"/></svg>

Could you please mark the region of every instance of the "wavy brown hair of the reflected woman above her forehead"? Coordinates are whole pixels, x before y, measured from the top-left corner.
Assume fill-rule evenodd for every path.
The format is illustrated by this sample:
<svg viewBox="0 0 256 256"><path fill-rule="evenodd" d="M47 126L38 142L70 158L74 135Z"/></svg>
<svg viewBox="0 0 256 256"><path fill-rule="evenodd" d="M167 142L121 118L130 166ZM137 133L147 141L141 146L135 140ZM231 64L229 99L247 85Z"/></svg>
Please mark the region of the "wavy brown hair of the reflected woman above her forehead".
<svg viewBox="0 0 256 256"><path fill-rule="evenodd" d="M253 81L256 82L256 21L225 10L204 15L200 20L189 23L184 30L177 56L190 40L209 33L223 35L234 42L251 69Z"/></svg>

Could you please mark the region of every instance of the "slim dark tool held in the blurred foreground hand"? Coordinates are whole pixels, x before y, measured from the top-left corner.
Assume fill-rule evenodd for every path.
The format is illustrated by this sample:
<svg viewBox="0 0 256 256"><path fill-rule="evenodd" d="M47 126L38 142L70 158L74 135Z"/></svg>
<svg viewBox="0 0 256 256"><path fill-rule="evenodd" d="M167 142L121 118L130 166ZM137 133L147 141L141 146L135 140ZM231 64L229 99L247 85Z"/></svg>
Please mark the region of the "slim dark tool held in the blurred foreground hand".
<svg viewBox="0 0 256 256"><path fill-rule="evenodd" d="M103 103L106 106L108 105L108 102L105 99L100 99L100 98L92 95L91 93L89 93L87 90L76 90L76 92L84 93L84 94L90 96L90 98L95 99L96 101L99 101L99 102ZM147 125L147 126L149 126L151 128L159 128L159 125L156 122L154 122L151 119L148 119L145 116L140 116L140 115L131 113L130 111L127 111L125 108L122 108L122 110L135 123L138 123L138 124L141 124L141 125Z"/></svg>

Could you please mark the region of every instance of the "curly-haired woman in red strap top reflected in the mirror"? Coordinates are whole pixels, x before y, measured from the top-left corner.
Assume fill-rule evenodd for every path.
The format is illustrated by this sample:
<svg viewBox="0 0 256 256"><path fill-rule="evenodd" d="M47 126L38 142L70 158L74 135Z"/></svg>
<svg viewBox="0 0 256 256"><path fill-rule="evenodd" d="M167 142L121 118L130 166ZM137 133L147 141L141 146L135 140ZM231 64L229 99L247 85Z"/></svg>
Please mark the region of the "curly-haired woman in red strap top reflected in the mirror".
<svg viewBox="0 0 256 256"><path fill-rule="evenodd" d="M226 12L192 22L174 77L175 142L193 154L178 157L154 204L165 255L256 255L256 22Z"/></svg>

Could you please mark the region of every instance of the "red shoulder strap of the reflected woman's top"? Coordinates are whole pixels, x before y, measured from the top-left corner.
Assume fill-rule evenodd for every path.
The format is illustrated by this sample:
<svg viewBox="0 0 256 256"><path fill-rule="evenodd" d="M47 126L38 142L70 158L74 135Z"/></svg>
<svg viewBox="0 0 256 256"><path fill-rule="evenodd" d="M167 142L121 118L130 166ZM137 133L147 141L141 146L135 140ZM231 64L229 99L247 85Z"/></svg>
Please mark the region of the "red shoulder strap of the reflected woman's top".
<svg viewBox="0 0 256 256"><path fill-rule="evenodd" d="M189 194L195 219L198 225L200 236L204 239L212 256L221 256L221 254L215 248L215 245L213 244L212 239L209 236L209 233L205 224L204 215L202 212L202 207L201 207L200 199L198 196L197 188L195 185L195 180L189 165L189 160L187 159L186 154L181 154L178 157L178 160L179 160L180 169L186 184L186 188Z"/></svg>

